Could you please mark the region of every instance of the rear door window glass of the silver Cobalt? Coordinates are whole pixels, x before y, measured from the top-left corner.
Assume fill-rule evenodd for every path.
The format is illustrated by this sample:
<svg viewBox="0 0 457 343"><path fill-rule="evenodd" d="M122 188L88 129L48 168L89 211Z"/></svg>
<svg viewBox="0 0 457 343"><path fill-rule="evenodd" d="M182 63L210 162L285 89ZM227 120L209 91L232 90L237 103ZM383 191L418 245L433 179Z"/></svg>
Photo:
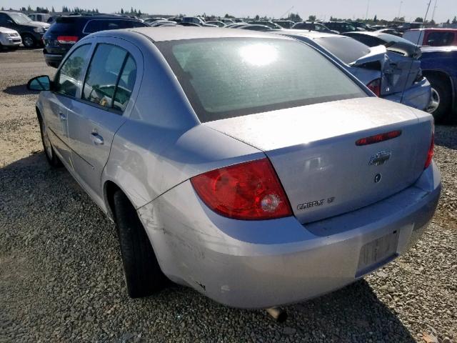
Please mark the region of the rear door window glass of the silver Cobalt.
<svg viewBox="0 0 457 343"><path fill-rule="evenodd" d="M136 81L136 64L119 46L99 44L84 81L82 99L124 111Z"/></svg>

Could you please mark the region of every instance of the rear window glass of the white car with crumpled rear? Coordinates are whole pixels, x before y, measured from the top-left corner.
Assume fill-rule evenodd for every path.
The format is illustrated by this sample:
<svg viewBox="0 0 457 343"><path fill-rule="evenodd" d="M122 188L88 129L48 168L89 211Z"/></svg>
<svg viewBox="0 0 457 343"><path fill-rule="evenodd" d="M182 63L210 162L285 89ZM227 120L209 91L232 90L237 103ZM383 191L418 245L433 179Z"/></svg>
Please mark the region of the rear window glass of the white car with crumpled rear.
<svg viewBox="0 0 457 343"><path fill-rule="evenodd" d="M370 52L365 44L345 36L320 37L315 41L346 64L357 61Z"/></svg>

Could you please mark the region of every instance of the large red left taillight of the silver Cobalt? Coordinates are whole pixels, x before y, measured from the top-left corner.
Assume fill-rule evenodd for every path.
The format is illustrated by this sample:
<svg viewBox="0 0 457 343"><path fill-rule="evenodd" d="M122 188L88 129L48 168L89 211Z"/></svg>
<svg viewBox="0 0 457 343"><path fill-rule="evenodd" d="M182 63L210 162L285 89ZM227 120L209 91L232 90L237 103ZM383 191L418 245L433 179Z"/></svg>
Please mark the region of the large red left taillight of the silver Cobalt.
<svg viewBox="0 0 457 343"><path fill-rule="evenodd" d="M233 219L273 219L292 215L286 193L268 159L216 169L191 179L203 202Z"/></svg>

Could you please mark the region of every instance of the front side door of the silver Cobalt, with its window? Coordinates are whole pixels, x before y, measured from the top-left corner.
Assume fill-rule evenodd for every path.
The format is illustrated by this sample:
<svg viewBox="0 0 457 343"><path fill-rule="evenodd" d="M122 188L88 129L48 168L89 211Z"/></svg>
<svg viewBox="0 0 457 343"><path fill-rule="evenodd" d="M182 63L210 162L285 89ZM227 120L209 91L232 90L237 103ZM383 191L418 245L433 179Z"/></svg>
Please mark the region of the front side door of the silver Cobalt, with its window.
<svg viewBox="0 0 457 343"><path fill-rule="evenodd" d="M45 105L45 124L49 138L61 159L70 164L70 148L67 119L74 101L81 91L81 84L89 61L91 44L84 44L71 52L57 71L54 89L48 93Z"/></svg>

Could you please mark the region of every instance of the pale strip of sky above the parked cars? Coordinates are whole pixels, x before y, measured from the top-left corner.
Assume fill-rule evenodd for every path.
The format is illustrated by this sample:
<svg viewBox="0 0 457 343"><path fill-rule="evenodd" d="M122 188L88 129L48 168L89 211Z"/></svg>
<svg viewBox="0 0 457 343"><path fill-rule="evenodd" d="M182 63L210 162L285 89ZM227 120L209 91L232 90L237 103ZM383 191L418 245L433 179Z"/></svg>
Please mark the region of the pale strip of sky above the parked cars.
<svg viewBox="0 0 457 343"><path fill-rule="evenodd" d="M30 5L48 7L52 6L56 11L61 6L79 6L80 8L96 8L101 12L112 13L120 11L121 7L130 8L133 6L141 12L149 14L215 14L224 16L228 13L233 16L268 16L279 18L281 15L292 11L307 19L310 14L315 14L318 19L329 19L330 16L347 19L365 18L368 8L368 18L375 14L378 19L391 20L394 17L405 16L406 21L413 21L416 17L423 17L429 0L0 0L0 6L6 9ZM457 16L457 0L431 0L428 19L431 19L433 7L436 4L434 19L437 22L453 19ZM369 5L369 6L368 6ZM291 7L293 8L291 9Z"/></svg>

